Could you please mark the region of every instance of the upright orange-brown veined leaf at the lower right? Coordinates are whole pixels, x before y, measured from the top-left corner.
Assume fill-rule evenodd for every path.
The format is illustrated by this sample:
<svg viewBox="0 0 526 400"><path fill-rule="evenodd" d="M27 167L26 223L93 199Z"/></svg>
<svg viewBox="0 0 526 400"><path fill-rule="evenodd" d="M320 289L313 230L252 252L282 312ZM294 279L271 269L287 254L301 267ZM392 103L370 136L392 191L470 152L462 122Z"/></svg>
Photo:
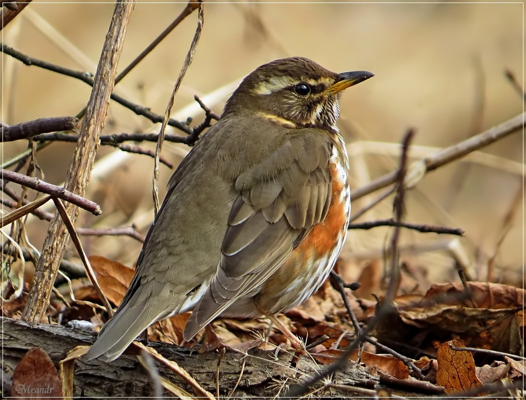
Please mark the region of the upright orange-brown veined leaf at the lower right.
<svg viewBox="0 0 526 400"><path fill-rule="evenodd" d="M465 347L459 341L442 343L437 349L437 384L443 386L447 394L464 392L482 386L477 377L473 355L467 351L451 348Z"/></svg>

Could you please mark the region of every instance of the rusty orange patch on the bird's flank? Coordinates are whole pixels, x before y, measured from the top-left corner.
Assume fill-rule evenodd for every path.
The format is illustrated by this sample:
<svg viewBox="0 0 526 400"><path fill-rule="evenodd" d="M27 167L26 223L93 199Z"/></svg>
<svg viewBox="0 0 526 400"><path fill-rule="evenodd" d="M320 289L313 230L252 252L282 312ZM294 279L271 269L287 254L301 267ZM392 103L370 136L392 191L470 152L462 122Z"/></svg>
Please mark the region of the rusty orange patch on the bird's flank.
<svg viewBox="0 0 526 400"><path fill-rule="evenodd" d="M346 223L345 204L340 202L343 183L339 180L334 164L330 165L332 177L332 198L325 221L316 224L309 234L301 241L294 253L308 254L313 251L317 257L325 257L332 252L338 242L343 225Z"/></svg>

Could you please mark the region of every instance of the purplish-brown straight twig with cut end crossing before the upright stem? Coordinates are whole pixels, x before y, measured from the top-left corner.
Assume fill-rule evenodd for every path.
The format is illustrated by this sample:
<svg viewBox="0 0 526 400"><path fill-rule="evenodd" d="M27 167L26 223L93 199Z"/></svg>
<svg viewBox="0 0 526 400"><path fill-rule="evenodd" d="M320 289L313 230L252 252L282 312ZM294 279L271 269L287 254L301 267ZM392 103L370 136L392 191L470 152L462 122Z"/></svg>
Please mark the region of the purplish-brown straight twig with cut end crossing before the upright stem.
<svg viewBox="0 0 526 400"><path fill-rule="evenodd" d="M102 214L102 211L100 210L100 207L97 203L92 202L75 193L69 192L62 186L52 185L50 183L41 181L38 178L32 178L17 172L9 171L8 169L0 168L0 173L3 176L3 179L6 181L14 182L19 185L34 189L37 192L46 193L54 197L61 198L64 201L75 204L94 215ZM85 184L86 183L84 182L84 185Z"/></svg>

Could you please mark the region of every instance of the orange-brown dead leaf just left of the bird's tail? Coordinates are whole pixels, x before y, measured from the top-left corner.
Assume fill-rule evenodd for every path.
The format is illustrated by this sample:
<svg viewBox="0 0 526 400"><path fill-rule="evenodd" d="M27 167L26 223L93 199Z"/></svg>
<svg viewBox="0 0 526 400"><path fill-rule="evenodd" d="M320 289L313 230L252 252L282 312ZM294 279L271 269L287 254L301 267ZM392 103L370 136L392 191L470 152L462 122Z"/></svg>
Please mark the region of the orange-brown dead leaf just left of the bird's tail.
<svg viewBox="0 0 526 400"><path fill-rule="evenodd" d="M102 291L115 305L123 301L135 271L124 264L102 256L89 256L97 281Z"/></svg>

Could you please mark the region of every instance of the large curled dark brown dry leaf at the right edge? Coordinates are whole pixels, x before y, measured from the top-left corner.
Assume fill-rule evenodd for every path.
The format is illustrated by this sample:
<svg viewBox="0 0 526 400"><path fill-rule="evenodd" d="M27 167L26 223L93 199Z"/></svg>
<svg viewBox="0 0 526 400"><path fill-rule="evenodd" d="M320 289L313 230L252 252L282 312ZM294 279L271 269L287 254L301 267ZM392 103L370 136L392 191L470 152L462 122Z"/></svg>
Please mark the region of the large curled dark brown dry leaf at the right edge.
<svg viewBox="0 0 526 400"><path fill-rule="evenodd" d="M468 293L460 283L433 285L417 305L406 298L395 299L398 308L379 322L379 341L410 357L415 356L408 352L410 347L433 354L433 341L451 339L470 347L520 354L526 292L487 282L468 282L467 287ZM479 361L483 357L477 355Z"/></svg>

